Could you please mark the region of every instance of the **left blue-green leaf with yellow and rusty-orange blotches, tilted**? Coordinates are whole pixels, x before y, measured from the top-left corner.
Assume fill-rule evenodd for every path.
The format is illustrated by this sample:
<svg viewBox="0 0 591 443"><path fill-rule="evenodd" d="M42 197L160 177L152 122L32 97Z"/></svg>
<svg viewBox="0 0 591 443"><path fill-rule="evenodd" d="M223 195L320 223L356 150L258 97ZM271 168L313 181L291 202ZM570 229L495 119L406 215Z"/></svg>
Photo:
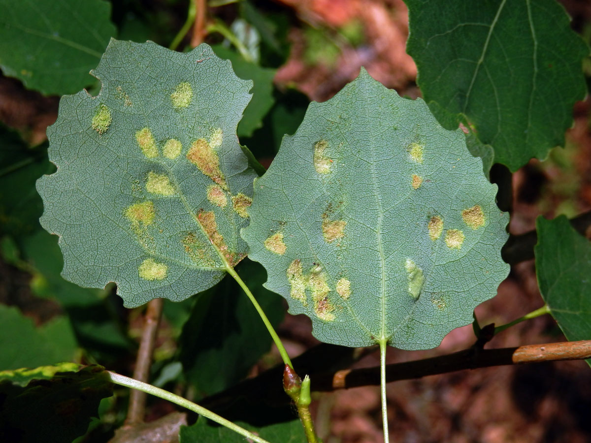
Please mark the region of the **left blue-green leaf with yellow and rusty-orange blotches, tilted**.
<svg viewBox="0 0 591 443"><path fill-rule="evenodd" d="M254 171L236 137L252 82L207 45L176 53L112 40L98 96L64 96L48 131L57 172L37 188L64 278L118 285L125 305L180 301L246 255Z"/></svg>

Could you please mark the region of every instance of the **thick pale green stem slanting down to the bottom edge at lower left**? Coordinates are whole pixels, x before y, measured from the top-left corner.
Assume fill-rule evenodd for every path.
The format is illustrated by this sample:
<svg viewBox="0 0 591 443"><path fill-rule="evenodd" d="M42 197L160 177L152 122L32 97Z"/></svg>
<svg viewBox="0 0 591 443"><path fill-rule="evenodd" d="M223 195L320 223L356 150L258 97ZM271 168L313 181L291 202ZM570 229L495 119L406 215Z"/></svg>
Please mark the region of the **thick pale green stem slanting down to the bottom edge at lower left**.
<svg viewBox="0 0 591 443"><path fill-rule="evenodd" d="M160 389L160 387L148 385L148 383L139 382L135 379L130 379L129 377L125 377L115 372L107 372L111 377L111 381L116 385L131 387L132 389L141 390L142 392L146 392L148 394L160 397L164 400L168 400L169 402L176 403L179 406L183 406L183 408L187 408L190 411L198 413L199 415L203 415L205 418L209 418L211 421L215 421L216 423L222 426L226 426L226 428L232 429L232 431L238 432L238 434L242 435L243 437L249 438L252 441L256 441L257 443L269 443L267 440L258 437L258 435L252 434L252 432L246 431L246 429L233 424L232 422L226 420L223 417L220 417L212 411L209 411L209 409L205 409L203 408L203 406L199 406L196 403L190 402L189 400L175 395L172 392Z"/></svg>

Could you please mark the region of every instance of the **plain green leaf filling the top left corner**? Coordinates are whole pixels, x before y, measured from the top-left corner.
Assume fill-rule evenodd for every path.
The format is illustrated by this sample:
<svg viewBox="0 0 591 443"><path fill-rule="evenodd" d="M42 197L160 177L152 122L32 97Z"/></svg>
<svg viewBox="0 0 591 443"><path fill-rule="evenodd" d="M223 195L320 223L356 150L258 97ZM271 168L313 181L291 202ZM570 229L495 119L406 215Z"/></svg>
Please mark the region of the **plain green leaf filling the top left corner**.
<svg viewBox="0 0 591 443"><path fill-rule="evenodd" d="M103 0L0 0L0 68L44 94L66 94L88 75L115 35Z"/></svg>

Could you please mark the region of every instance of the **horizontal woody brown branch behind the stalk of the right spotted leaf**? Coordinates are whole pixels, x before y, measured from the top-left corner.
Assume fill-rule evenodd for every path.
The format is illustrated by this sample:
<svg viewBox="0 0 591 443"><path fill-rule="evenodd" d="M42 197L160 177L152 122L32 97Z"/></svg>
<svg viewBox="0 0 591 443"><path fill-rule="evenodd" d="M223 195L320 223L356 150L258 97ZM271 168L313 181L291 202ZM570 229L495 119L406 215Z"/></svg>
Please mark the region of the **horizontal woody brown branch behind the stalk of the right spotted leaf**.
<svg viewBox="0 0 591 443"><path fill-rule="evenodd" d="M389 364L386 366L386 380L394 382L479 367L588 358L591 358L591 340L492 350L483 350L474 346L446 356ZM293 364L298 373L310 374L311 390L317 392L379 385L379 366L368 369L337 370L339 367L350 366L354 361L356 361L355 348L322 343L293 359ZM319 366L322 365L325 365L326 372L320 372L323 369ZM289 399L281 383L277 382L281 380L283 369L280 365L255 378L246 379L223 392L203 399L202 406L222 411L226 406L234 403L239 396L264 398L267 403L276 406L285 404Z"/></svg>

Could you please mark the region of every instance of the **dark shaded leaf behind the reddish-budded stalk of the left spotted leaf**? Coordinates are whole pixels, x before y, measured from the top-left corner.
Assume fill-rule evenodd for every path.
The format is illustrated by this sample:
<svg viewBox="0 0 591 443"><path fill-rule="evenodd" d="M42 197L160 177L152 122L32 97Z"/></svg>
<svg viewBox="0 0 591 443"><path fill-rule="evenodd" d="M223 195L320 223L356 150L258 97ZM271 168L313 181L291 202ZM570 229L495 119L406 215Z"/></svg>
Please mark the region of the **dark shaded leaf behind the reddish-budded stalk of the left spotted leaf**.
<svg viewBox="0 0 591 443"><path fill-rule="evenodd" d="M236 272L252 289L274 327L284 316L283 300L262 288L267 273L246 259ZM180 361L197 395L208 396L237 383L271 348L271 336L251 301L231 278L200 294L180 338Z"/></svg>

